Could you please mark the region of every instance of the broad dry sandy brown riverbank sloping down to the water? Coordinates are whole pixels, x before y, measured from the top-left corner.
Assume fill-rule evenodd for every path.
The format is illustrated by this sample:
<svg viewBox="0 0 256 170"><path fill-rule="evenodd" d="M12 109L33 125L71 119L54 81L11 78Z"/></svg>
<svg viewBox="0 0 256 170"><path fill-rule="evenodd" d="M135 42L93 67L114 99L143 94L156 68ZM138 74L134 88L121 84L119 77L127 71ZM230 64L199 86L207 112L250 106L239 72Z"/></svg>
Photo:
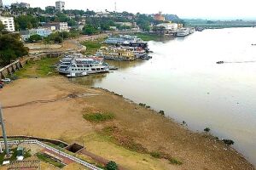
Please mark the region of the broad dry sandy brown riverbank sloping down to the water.
<svg viewBox="0 0 256 170"><path fill-rule="evenodd" d="M254 169L236 150L207 134L192 133L120 96L84 88L64 77L20 79L0 91L0 101L8 135L79 142L127 169ZM103 123L84 120L84 113L95 111L112 112L115 119ZM111 131L106 133L106 129ZM148 155L152 151L183 164L154 158Z"/></svg>

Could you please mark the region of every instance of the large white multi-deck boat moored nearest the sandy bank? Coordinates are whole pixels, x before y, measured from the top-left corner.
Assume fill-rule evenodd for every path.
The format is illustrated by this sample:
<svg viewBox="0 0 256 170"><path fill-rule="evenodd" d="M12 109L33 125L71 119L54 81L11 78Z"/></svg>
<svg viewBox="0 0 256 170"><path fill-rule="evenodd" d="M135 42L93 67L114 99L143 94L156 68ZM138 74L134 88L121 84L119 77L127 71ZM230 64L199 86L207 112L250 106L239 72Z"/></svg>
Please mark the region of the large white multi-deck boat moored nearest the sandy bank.
<svg viewBox="0 0 256 170"><path fill-rule="evenodd" d="M105 65L100 59L95 58L78 58L77 56L69 56L70 63L60 63L58 71L62 74L86 72L87 74L95 74L101 72L108 72L108 65ZM65 57L67 59L67 57ZM61 61L61 60L60 60Z"/></svg>

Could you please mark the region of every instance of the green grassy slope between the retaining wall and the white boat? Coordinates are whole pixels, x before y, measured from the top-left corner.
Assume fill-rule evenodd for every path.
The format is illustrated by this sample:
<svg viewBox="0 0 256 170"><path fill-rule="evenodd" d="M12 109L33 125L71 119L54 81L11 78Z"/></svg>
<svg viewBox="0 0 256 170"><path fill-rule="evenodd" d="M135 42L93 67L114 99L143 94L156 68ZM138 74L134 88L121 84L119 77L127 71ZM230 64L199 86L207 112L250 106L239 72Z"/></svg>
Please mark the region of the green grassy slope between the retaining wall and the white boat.
<svg viewBox="0 0 256 170"><path fill-rule="evenodd" d="M57 75L55 64L59 58L45 58L38 61L31 61L24 65L20 71L15 72L15 77L49 77Z"/></svg>

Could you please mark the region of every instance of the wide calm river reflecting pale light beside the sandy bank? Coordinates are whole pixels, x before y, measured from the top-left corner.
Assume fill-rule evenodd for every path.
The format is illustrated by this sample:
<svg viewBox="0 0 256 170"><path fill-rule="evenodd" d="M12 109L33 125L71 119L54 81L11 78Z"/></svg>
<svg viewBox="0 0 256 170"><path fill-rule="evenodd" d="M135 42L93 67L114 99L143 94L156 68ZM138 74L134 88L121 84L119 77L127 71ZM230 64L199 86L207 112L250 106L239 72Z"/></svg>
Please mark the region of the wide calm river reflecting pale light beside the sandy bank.
<svg viewBox="0 0 256 170"><path fill-rule="evenodd" d="M119 70L73 81L163 110L191 130L210 127L213 135L234 140L234 148L256 165L256 46L252 43L256 28L195 32L148 42L153 59L108 61ZM219 60L230 63L217 65Z"/></svg>

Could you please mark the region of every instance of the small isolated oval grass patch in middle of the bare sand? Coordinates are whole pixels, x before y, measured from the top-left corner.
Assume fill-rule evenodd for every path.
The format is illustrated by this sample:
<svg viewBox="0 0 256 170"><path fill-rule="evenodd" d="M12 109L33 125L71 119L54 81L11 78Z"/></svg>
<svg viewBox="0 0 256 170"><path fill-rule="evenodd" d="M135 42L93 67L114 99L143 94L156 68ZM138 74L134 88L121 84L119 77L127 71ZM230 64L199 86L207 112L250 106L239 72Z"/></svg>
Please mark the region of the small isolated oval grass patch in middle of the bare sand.
<svg viewBox="0 0 256 170"><path fill-rule="evenodd" d="M106 122L114 119L113 113L88 113L83 115L89 122Z"/></svg>

